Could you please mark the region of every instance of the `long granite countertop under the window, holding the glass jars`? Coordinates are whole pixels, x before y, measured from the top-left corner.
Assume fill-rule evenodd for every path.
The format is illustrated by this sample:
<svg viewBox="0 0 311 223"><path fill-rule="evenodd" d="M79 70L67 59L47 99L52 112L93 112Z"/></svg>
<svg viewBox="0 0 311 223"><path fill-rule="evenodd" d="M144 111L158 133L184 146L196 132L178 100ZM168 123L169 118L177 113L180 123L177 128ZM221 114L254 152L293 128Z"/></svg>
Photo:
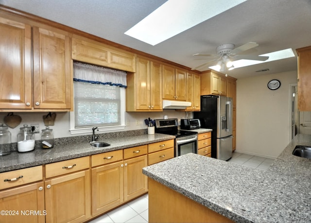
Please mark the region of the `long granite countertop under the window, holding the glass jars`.
<svg viewBox="0 0 311 223"><path fill-rule="evenodd" d="M101 148L93 147L87 140L85 140L83 142L71 142L64 145L58 144L52 149L46 150L38 148L26 153L12 152L11 154L0 156L0 172L34 167L42 164L48 164L92 154L100 154L104 152L145 145L153 142L164 141L172 138L175 137L157 133L154 135L144 134L138 136L100 139L99 141L104 141L110 144L110 146Z"/></svg>

